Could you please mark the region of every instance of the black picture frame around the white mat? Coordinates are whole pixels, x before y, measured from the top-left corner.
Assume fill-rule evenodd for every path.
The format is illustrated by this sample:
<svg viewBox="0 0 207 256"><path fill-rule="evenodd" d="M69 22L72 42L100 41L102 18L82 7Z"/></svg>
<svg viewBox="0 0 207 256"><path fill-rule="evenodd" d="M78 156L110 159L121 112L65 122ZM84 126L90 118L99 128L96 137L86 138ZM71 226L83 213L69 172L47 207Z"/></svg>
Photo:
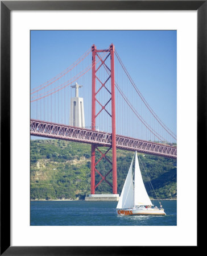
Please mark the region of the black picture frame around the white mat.
<svg viewBox="0 0 207 256"><path fill-rule="evenodd" d="M1 255L148 255L168 247L10 246L10 12L12 10L197 10L197 173L206 158L207 1L1 1ZM198 200L200 196L198 195ZM198 238L197 238L198 241ZM181 252L179 247L179 252ZM171 247L173 253L177 248ZM191 252L198 249L191 247ZM186 248L184 247L186 252Z"/></svg>

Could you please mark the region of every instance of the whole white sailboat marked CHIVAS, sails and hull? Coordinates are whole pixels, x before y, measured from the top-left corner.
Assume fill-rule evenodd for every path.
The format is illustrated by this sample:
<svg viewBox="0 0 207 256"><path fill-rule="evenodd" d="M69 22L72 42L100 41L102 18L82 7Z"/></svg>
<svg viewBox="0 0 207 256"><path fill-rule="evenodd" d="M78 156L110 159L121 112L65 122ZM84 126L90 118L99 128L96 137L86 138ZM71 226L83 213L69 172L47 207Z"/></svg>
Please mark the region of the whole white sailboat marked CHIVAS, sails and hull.
<svg viewBox="0 0 207 256"><path fill-rule="evenodd" d="M134 158L135 168L133 172ZM116 211L119 215L166 215L162 205L160 204L159 208L154 206L147 194L136 152L131 161Z"/></svg>

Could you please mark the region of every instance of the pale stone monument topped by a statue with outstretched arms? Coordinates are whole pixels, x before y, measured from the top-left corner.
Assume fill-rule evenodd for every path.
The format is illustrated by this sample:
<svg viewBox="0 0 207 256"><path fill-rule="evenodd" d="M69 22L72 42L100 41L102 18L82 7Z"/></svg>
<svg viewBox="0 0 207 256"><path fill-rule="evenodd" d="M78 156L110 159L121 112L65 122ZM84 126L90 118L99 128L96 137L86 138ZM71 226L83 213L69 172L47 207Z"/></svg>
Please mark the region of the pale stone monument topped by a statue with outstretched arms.
<svg viewBox="0 0 207 256"><path fill-rule="evenodd" d="M76 82L76 84L72 85L71 87L76 89L76 94L75 97L71 98L71 115L69 125L85 127L84 99L78 97L78 88L81 88L82 85L78 85Z"/></svg>

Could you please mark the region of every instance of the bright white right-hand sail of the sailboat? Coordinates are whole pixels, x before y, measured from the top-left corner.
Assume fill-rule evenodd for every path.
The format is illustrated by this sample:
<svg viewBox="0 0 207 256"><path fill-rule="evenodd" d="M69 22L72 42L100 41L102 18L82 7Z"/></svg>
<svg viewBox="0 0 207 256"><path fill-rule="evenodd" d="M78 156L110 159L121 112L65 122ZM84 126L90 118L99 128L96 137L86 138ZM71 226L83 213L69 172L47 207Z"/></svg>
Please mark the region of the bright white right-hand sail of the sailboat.
<svg viewBox="0 0 207 256"><path fill-rule="evenodd" d="M135 152L134 205L152 205L142 180L137 154Z"/></svg>

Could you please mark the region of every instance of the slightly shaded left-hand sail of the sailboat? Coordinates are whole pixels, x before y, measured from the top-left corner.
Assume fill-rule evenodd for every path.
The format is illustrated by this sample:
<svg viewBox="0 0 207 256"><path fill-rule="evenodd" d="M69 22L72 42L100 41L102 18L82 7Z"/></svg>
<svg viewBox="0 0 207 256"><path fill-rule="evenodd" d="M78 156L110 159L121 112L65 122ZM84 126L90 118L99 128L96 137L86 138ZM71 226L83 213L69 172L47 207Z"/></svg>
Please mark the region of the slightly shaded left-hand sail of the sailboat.
<svg viewBox="0 0 207 256"><path fill-rule="evenodd" d="M117 204L118 209L126 209L134 206L134 184L133 184L133 160L127 174L125 184L123 185L121 196Z"/></svg>

